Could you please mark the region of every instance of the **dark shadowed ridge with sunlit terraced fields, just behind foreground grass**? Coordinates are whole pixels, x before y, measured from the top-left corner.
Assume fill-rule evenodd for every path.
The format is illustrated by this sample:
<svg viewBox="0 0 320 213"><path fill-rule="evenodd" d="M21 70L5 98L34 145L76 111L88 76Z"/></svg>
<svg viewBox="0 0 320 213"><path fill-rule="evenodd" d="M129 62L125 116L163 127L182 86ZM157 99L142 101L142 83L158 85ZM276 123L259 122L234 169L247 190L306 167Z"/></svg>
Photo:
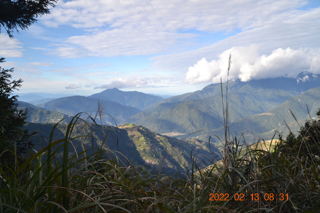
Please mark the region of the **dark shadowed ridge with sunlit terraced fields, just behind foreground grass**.
<svg viewBox="0 0 320 213"><path fill-rule="evenodd" d="M53 124L27 123L25 128L29 131L38 131L38 134L32 137L36 151L47 146L49 135ZM66 124L58 124L53 132L53 141L63 139L66 133ZM92 132L92 133L91 133ZM105 134L107 134L106 140ZM176 172L186 171L191 165L191 152L199 156L199 161L209 163L208 159L213 160L212 152L219 150L211 147L204 141L197 139L181 141L180 139L157 134L149 129L133 124L119 126L105 126L94 124L79 123L74 126L72 136L87 135L75 140L74 145L69 145L70 152L81 153L82 145L86 149L98 150L100 146L112 151L120 151L128 160L135 164L158 167L163 166L163 170ZM104 141L104 142L103 142ZM59 145L56 147L58 148ZM55 149L54 149L55 150ZM94 151L92 150L92 151ZM91 151L91 152L92 152ZM62 156L63 150L57 152L57 156ZM89 155L90 152L87 152ZM203 156L201 156L203 155ZM121 156L121 155L118 155ZM207 156L206 159L204 156ZM125 160L125 159L123 159Z"/></svg>

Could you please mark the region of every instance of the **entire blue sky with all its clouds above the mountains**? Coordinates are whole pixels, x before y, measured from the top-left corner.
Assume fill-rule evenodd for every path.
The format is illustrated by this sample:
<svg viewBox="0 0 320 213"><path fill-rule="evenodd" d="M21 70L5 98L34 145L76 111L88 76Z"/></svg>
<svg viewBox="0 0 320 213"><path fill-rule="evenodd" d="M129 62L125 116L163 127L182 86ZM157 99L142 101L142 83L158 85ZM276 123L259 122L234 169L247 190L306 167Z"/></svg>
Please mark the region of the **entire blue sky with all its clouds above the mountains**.
<svg viewBox="0 0 320 213"><path fill-rule="evenodd" d="M19 93L183 94L229 79L320 74L319 0L59 0L0 64Z"/></svg>

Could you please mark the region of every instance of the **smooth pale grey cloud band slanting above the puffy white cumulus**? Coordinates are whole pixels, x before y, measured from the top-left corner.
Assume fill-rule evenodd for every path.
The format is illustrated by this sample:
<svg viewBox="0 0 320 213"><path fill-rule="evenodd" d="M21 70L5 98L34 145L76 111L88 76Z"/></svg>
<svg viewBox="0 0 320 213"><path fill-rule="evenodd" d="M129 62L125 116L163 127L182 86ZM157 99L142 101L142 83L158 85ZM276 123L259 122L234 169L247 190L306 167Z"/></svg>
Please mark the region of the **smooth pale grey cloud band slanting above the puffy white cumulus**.
<svg viewBox="0 0 320 213"><path fill-rule="evenodd" d="M269 55L273 50L288 47L320 48L320 8L310 11L282 13L270 19L268 24L230 36L224 40L200 49L182 53L160 55L152 57L152 66L157 69L177 71L188 70L199 59L216 59L217 55L226 49L236 46L259 45L261 55ZM319 69L320 64L312 63L311 69Z"/></svg>

